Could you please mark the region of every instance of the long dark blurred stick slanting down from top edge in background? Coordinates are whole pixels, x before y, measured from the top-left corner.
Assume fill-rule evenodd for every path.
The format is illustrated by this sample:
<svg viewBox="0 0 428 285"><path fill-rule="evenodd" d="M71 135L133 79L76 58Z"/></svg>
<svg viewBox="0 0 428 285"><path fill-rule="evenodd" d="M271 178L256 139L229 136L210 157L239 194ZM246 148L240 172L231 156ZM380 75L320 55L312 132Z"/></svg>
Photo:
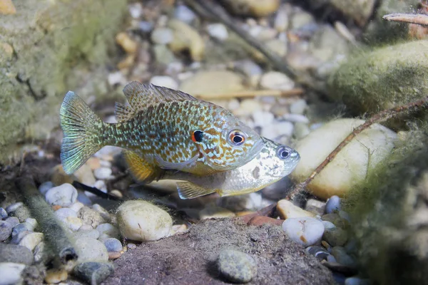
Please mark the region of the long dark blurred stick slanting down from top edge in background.
<svg viewBox="0 0 428 285"><path fill-rule="evenodd" d="M250 46L256 48L260 53L267 58L267 60L274 66L277 71L281 71L285 73L287 76L292 78L292 80L297 83L302 84L302 86L306 86L311 88L312 90L316 90L319 93L325 94L325 88L319 86L315 83L315 80L306 76L305 74L297 73L297 71L293 70L285 61L284 58L281 58L270 48L267 48L265 44L260 42L257 38L251 36L247 33L243 28L241 28L238 24L233 21L233 19L228 15L228 13L223 9L222 6L217 4L215 1L207 1L207 0L184 0L188 6L192 7L196 12L200 13L200 11L206 11L213 16L217 21L221 21L223 24L228 26L232 31L234 31L238 36L243 38Z"/></svg>

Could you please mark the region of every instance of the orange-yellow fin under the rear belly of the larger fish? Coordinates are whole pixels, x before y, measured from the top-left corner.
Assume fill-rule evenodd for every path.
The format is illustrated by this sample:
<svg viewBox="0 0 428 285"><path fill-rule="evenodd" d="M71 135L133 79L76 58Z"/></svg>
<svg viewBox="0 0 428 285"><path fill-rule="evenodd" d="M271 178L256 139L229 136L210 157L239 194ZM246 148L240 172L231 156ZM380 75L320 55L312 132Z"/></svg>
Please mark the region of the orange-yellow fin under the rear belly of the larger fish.
<svg viewBox="0 0 428 285"><path fill-rule="evenodd" d="M158 180L163 173L161 168L151 165L136 152L124 150L123 157L125 157L131 175L139 182L149 183Z"/></svg>

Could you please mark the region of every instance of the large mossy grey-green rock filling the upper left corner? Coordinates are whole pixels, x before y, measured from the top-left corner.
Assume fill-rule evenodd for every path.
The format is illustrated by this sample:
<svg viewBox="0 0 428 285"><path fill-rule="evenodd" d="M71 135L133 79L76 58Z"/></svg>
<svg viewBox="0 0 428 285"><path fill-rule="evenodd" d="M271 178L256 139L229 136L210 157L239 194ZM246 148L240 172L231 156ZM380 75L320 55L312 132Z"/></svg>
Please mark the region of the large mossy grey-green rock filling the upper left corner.
<svg viewBox="0 0 428 285"><path fill-rule="evenodd" d="M106 93L106 69L87 70L102 69L126 3L15 1L16 14L0 17L0 162L16 142L45 139L58 126L67 90L85 84L83 98Z"/></svg>

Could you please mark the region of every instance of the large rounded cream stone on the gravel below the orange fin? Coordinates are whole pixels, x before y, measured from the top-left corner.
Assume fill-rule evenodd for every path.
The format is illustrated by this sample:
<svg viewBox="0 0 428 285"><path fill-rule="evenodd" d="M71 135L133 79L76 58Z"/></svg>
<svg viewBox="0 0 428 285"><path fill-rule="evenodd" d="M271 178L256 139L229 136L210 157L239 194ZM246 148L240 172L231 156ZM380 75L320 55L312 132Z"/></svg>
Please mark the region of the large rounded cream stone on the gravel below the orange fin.
<svg viewBox="0 0 428 285"><path fill-rule="evenodd" d="M116 217L123 237L141 242L166 237L173 226L168 212L142 200L124 202Z"/></svg>

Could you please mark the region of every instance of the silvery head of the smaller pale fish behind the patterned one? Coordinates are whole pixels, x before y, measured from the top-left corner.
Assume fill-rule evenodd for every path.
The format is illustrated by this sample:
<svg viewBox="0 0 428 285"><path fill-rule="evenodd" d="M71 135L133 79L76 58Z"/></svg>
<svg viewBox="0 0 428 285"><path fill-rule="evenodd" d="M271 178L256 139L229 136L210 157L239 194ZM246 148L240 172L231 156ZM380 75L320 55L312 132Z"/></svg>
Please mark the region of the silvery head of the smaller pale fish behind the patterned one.
<svg viewBox="0 0 428 285"><path fill-rule="evenodd" d="M270 177L282 178L289 175L300 161L299 153L292 147L280 145L263 138L265 147L256 159L260 163L260 170Z"/></svg>

